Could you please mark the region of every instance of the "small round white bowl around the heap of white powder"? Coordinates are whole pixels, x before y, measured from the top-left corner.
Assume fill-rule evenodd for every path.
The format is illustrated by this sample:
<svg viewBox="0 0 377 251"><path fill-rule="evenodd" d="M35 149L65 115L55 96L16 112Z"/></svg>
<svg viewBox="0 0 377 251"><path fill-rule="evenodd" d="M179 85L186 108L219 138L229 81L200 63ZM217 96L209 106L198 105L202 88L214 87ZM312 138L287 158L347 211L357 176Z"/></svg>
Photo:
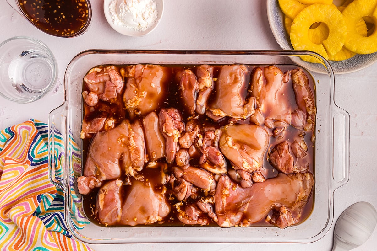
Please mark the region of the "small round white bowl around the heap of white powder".
<svg viewBox="0 0 377 251"><path fill-rule="evenodd" d="M138 30L127 28L125 26L116 25L113 23L113 20L109 14L109 4L111 1L112 0L104 0L103 2L103 11L104 11L107 23L109 23L110 26L117 32L121 33L122 35L130 36L130 37L142 37L152 32L152 30L156 29L159 21L161 20L162 14L164 12L164 0L153 0L156 3L157 19L155 23L148 29L144 31L138 31ZM118 1L121 1L121 0L118 0Z"/></svg>

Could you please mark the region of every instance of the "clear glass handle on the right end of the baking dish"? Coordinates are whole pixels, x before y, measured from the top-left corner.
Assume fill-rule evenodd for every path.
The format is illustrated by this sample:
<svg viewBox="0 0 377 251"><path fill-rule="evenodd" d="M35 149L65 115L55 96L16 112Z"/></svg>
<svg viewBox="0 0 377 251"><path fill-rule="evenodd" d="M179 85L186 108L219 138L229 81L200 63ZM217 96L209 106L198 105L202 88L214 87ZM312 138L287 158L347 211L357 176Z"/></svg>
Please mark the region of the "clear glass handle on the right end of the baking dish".
<svg viewBox="0 0 377 251"><path fill-rule="evenodd" d="M349 114L335 106L333 116L333 190L349 179Z"/></svg>

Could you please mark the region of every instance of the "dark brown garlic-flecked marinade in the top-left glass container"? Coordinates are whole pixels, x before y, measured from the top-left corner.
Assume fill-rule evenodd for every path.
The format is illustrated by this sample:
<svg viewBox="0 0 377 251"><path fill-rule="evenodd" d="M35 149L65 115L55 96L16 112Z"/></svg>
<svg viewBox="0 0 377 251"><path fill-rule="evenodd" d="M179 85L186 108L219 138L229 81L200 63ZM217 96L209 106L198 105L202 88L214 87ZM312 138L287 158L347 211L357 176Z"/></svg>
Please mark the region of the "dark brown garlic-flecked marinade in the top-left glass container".
<svg viewBox="0 0 377 251"><path fill-rule="evenodd" d="M71 37L90 21L87 0L18 0L18 4L32 24L57 37Z"/></svg>

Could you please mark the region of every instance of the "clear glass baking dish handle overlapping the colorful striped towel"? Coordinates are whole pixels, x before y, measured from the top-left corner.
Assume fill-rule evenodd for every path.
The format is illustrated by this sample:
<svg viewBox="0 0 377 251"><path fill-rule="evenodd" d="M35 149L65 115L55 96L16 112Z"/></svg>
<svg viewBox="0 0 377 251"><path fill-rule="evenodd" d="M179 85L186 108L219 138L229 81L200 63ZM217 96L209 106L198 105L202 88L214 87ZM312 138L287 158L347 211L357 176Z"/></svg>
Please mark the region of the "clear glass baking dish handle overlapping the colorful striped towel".
<svg viewBox="0 0 377 251"><path fill-rule="evenodd" d="M49 114L49 179L52 184L66 189L66 105L63 104Z"/></svg>

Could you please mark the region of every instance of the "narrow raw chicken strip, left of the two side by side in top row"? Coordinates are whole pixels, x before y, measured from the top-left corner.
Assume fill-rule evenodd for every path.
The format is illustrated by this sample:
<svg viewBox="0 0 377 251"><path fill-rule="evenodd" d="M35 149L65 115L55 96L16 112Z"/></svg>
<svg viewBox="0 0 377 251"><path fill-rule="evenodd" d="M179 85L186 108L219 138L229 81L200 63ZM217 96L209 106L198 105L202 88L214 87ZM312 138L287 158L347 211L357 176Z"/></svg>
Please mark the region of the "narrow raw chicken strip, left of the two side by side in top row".
<svg viewBox="0 0 377 251"><path fill-rule="evenodd" d="M176 75L181 90L181 97L185 104L186 110L190 114L195 113L196 95L199 91L199 82L196 80L195 74L191 70L179 71Z"/></svg>

